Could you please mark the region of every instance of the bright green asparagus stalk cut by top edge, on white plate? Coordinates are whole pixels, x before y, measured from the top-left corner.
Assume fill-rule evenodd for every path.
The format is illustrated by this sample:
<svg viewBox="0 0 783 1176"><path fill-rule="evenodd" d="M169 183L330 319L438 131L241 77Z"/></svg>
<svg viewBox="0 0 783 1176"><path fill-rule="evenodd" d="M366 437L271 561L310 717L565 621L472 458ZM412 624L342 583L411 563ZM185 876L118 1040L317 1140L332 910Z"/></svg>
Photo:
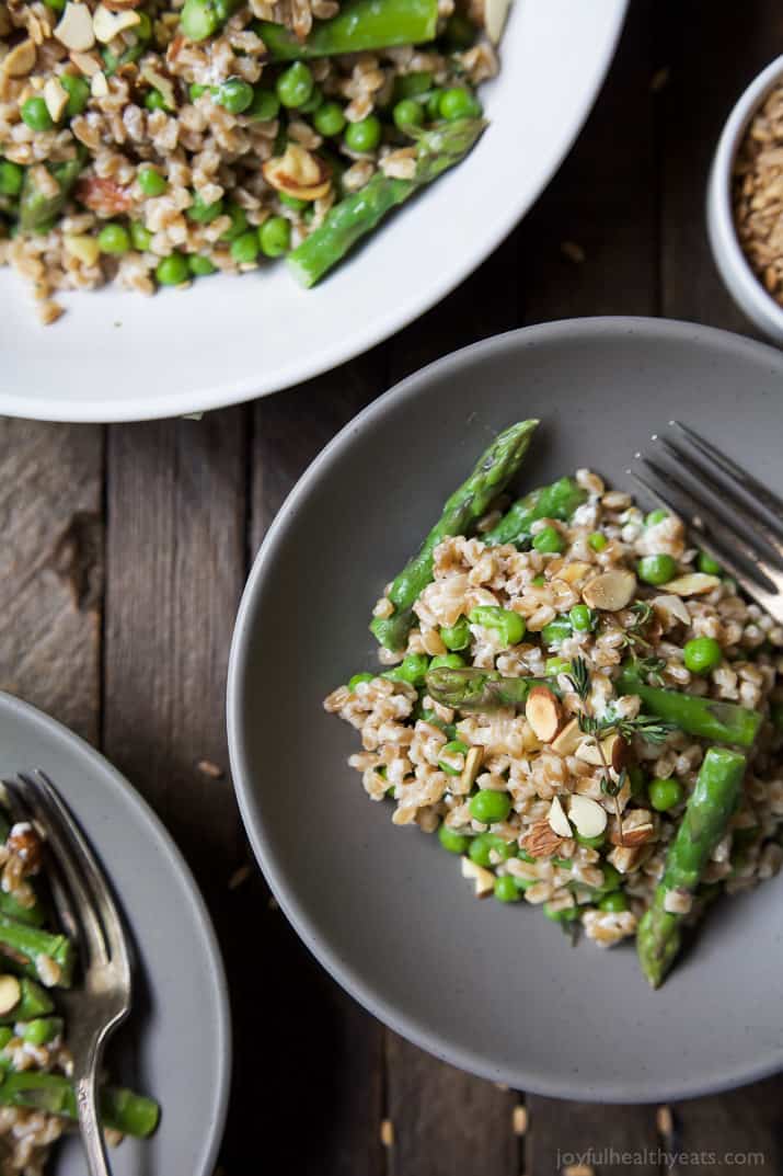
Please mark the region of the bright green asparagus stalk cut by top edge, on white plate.
<svg viewBox="0 0 783 1176"><path fill-rule="evenodd" d="M333 58L395 45L420 45L435 38L437 0L349 0L332 20L319 20L306 40L268 20L255 31L273 61Z"/></svg>

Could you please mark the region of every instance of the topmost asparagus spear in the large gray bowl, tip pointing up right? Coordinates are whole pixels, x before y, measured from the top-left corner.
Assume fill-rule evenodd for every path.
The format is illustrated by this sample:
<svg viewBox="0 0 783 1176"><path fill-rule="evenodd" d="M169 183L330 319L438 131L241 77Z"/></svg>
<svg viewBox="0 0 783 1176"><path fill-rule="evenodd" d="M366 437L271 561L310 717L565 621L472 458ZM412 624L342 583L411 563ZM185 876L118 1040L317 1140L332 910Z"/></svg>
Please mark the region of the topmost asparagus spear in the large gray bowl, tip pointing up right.
<svg viewBox="0 0 783 1176"><path fill-rule="evenodd" d="M467 482L448 499L421 550L406 564L389 589L389 600L394 604L393 615L376 616L370 624L370 629L387 649L404 648L413 624L414 602L433 579L433 552L449 535L467 534L473 523L486 513L491 500L508 486L528 452L537 423L536 420L520 421L496 436Z"/></svg>

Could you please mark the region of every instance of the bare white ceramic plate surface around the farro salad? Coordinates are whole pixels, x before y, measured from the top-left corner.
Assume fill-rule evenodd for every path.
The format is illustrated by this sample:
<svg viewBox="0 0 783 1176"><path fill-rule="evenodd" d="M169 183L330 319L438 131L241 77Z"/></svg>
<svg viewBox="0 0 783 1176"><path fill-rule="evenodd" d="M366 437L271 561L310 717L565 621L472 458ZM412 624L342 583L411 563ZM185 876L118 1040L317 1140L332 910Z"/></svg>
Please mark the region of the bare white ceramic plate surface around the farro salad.
<svg viewBox="0 0 783 1176"><path fill-rule="evenodd" d="M276 392L386 339L503 240L551 178L603 80L628 0L515 0L490 126L466 162L319 288L283 265L186 294L120 289L63 299L40 327L0 270L0 414L120 421L219 408Z"/></svg>

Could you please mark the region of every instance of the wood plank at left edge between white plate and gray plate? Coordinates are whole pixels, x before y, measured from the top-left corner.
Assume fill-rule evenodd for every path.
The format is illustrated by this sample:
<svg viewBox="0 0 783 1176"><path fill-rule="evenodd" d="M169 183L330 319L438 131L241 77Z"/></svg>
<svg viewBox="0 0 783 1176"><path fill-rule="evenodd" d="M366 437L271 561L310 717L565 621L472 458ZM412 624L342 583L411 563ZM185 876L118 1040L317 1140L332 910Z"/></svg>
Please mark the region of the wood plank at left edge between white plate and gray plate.
<svg viewBox="0 0 783 1176"><path fill-rule="evenodd" d="M0 687L96 742L102 430L0 419Z"/></svg>

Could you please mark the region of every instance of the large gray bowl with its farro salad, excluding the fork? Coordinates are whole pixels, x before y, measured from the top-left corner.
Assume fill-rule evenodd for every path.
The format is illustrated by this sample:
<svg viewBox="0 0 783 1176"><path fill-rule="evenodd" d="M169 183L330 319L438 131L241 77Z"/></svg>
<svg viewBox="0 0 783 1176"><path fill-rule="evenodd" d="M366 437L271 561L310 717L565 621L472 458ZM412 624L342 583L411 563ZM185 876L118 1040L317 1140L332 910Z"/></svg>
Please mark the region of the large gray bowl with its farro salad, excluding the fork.
<svg viewBox="0 0 783 1176"><path fill-rule="evenodd" d="M783 1063L783 624L628 470L687 412L781 495L782 380L687 323L514 332L375 401L263 542L228 688L252 843L453 1064L647 1102Z"/></svg>

